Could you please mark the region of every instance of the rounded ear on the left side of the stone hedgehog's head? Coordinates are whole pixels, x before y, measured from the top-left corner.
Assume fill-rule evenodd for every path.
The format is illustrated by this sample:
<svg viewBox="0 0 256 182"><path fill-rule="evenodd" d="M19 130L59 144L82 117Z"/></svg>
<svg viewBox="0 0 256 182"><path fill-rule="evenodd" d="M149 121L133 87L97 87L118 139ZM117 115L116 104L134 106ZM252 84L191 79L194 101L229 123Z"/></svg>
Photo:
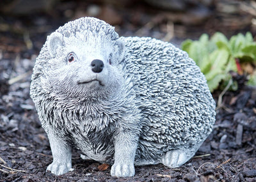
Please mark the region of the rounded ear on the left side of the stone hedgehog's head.
<svg viewBox="0 0 256 182"><path fill-rule="evenodd" d="M57 49L63 46L63 35L58 32L52 33L47 38L47 48L51 57L56 57Z"/></svg>

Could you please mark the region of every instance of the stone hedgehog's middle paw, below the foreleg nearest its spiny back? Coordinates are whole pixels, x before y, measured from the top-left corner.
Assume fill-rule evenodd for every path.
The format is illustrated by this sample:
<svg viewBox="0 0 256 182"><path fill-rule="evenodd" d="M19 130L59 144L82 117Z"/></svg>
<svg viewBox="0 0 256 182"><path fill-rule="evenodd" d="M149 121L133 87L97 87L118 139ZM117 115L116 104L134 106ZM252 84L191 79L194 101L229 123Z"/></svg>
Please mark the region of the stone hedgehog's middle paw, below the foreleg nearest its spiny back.
<svg viewBox="0 0 256 182"><path fill-rule="evenodd" d="M133 163L114 163L111 167L111 176L129 177L134 176L135 169Z"/></svg>

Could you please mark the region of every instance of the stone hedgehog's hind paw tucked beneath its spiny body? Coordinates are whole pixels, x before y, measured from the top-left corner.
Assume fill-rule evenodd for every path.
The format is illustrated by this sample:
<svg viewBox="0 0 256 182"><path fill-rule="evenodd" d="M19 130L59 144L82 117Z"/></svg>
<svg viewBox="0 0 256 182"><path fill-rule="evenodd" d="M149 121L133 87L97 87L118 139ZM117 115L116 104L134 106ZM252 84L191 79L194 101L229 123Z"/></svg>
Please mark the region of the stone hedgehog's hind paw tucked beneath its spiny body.
<svg viewBox="0 0 256 182"><path fill-rule="evenodd" d="M193 155L195 153L188 151L188 149L177 149L166 152L161 162L170 168L180 167L180 165L186 163Z"/></svg>

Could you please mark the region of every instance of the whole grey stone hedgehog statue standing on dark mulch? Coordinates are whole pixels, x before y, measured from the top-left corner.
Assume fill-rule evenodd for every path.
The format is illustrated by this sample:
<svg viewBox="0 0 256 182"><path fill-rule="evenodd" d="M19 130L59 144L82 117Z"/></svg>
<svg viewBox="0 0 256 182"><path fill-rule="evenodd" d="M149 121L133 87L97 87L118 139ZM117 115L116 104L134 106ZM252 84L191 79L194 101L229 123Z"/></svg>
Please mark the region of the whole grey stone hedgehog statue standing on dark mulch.
<svg viewBox="0 0 256 182"><path fill-rule="evenodd" d="M118 37L106 22L84 17L47 37L31 82L53 156L47 170L72 169L71 148L113 164L187 162L212 131L215 103L186 52L154 38Z"/></svg>

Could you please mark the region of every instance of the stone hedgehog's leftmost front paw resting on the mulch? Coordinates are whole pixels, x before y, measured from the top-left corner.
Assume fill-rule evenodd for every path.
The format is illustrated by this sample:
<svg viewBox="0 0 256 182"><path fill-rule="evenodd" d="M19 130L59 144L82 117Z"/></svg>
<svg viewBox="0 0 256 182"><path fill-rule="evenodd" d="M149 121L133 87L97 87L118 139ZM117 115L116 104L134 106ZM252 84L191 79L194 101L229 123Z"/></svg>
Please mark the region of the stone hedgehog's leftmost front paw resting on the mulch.
<svg viewBox="0 0 256 182"><path fill-rule="evenodd" d="M73 171L71 163L59 163L59 162L52 162L46 169L49 170L55 175L65 174L68 171Z"/></svg>

